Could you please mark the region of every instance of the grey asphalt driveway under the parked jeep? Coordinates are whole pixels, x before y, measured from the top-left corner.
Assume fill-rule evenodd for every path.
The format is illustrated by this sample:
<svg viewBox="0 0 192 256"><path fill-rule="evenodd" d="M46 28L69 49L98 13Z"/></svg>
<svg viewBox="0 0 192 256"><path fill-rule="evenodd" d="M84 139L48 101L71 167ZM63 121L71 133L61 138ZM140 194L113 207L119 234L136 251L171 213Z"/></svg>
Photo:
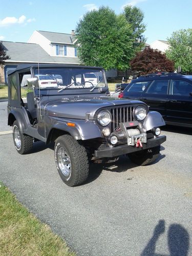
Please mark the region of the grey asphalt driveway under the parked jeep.
<svg viewBox="0 0 192 256"><path fill-rule="evenodd" d="M1 135L0 180L78 255L192 255L192 133L162 133L156 164L92 164L74 188L57 173L53 145L36 142L22 156L12 135Z"/></svg>

